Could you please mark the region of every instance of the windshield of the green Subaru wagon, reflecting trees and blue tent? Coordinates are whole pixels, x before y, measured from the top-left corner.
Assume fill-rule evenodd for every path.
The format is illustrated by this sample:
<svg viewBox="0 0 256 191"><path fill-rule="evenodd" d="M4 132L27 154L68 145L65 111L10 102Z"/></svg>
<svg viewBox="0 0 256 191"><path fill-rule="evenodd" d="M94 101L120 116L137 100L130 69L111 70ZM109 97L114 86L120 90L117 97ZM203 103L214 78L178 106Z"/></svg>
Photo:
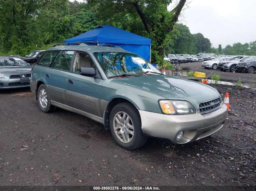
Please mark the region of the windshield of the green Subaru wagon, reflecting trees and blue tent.
<svg viewBox="0 0 256 191"><path fill-rule="evenodd" d="M108 77L141 75L146 72L161 72L136 54L122 52L94 53Z"/></svg>

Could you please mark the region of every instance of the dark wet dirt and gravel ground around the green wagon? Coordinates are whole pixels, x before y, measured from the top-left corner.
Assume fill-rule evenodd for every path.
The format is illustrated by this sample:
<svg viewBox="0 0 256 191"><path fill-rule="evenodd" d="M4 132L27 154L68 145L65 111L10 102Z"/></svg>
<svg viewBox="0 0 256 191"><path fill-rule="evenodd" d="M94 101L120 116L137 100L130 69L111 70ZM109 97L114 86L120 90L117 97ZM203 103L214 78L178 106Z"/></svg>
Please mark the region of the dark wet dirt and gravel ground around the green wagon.
<svg viewBox="0 0 256 191"><path fill-rule="evenodd" d="M256 91L212 86L230 95L222 129L185 145L150 138L135 151L84 116L41 112L29 88L0 91L0 185L255 186Z"/></svg>

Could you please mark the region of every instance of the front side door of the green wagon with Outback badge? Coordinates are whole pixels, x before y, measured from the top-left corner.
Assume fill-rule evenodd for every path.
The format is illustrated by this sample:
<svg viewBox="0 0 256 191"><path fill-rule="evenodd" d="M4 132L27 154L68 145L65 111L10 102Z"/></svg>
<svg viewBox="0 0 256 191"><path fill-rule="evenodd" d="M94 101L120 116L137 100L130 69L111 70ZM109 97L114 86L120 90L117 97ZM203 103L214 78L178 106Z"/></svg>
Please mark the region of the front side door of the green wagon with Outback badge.
<svg viewBox="0 0 256 191"><path fill-rule="evenodd" d="M83 76L80 74L81 67L93 67L96 71L95 77ZM77 52L71 72L66 80L67 104L75 109L103 117L101 110L101 79L98 69L88 53Z"/></svg>

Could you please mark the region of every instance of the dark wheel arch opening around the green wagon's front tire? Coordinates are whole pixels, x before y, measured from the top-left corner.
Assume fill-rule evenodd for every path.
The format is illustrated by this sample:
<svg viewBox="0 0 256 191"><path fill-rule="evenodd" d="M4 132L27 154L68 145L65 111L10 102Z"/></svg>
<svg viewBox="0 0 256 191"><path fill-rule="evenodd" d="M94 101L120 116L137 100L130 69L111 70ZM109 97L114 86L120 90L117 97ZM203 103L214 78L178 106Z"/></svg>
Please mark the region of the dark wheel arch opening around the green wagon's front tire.
<svg viewBox="0 0 256 191"><path fill-rule="evenodd" d="M128 102L128 103L131 103L137 110L138 110L138 107L132 103L131 101L129 101L128 99L125 99L125 98L121 98L121 97L116 97L116 98L113 98L109 103L108 103L108 106L106 108L106 111L104 111L104 114L103 114L103 123L104 123L104 127L105 129L110 129L110 126L109 126L109 117L110 117L110 113L112 111L112 109L115 107L115 105L117 105L118 103L123 103L123 102Z"/></svg>

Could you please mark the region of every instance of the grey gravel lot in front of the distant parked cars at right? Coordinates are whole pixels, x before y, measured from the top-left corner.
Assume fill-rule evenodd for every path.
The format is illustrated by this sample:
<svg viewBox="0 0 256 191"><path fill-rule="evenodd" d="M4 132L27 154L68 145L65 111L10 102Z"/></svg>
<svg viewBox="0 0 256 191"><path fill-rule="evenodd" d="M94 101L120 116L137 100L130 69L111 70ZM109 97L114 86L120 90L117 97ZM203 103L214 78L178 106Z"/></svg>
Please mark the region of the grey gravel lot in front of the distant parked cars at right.
<svg viewBox="0 0 256 191"><path fill-rule="evenodd" d="M209 76L211 72L221 75L221 81L237 82L241 77L241 82L246 84L256 84L256 74L222 72L221 70L213 70L211 68L203 68L202 62L181 63L180 69L184 67L193 68L194 71L204 72Z"/></svg>

